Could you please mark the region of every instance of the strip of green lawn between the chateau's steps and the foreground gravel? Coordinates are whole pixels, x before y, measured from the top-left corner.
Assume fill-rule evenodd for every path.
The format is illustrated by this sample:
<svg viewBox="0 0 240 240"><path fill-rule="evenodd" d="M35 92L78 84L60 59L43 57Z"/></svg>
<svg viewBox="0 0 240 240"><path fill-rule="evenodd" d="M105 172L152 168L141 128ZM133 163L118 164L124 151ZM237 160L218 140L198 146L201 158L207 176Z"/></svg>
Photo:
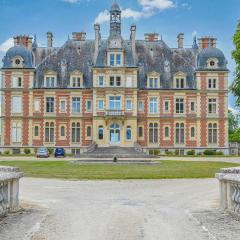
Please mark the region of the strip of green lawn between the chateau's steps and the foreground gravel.
<svg viewBox="0 0 240 240"><path fill-rule="evenodd" d="M27 177L104 180L212 178L220 168L235 167L240 164L161 161L156 165L77 165L67 161L1 161L0 165L19 167Z"/></svg>

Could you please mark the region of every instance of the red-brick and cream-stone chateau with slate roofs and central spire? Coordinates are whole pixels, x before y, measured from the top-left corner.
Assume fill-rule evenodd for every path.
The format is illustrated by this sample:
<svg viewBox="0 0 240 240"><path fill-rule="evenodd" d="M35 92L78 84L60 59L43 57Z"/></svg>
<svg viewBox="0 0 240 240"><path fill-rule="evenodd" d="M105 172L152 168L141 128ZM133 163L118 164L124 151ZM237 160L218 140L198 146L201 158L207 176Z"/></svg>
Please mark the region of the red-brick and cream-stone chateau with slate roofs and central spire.
<svg viewBox="0 0 240 240"><path fill-rule="evenodd" d="M14 38L2 71L2 148L99 147L144 151L214 149L228 153L227 60L216 38L184 34L171 48L157 33L121 35L121 10L110 10L110 32L95 39L75 32L63 46Z"/></svg>

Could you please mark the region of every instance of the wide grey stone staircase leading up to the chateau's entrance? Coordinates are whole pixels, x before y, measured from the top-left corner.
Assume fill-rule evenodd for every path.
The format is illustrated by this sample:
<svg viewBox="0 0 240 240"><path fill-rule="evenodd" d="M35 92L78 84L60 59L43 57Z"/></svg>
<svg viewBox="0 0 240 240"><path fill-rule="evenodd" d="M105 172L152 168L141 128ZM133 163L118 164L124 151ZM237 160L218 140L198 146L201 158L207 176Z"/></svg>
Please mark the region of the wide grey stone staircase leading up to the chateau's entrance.
<svg viewBox="0 0 240 240"><path fill-rule="evenodd" d="M137 151L133 147L97 147L93 151L82 153L78 158L87 159L108 159L117 156L117 158L153 158L154 156Z"/></svg>

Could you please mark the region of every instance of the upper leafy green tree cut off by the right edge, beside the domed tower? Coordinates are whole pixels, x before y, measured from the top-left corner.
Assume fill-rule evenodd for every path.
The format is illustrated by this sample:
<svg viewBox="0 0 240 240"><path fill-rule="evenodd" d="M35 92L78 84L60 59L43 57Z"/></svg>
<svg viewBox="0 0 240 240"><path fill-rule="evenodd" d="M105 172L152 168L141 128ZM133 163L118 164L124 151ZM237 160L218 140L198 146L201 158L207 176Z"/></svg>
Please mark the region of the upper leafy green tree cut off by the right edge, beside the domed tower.
<svg viewBox="0 0 240 240"><path fill-rule="evenodd" d="M238 22L236 33L233 36L233 43L235 50L232 52L232 57L236 62L236 70L231 90L236 97L236 105L240 106L240 21Z"/></svg>

